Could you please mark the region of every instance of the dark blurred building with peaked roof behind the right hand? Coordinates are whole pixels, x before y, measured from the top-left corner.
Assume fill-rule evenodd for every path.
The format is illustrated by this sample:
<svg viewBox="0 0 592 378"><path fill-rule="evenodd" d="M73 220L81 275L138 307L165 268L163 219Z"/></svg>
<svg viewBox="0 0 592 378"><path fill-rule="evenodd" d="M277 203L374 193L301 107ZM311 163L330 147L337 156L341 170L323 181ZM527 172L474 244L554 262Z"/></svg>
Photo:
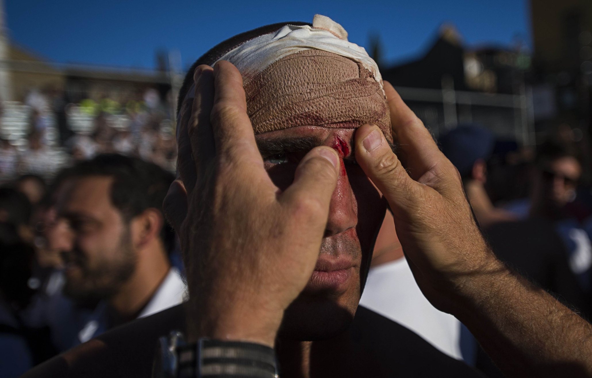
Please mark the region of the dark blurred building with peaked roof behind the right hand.
<svg viewBox="0 0 592 378"><path fill-rule="evenodd" d="M535 135L525 85L529 67L520 45L475 49L465 46L452 25L443 25L422 57L381 67L381 73L435 137L458 124L478 123L498 138L530 145Z"/></svg>

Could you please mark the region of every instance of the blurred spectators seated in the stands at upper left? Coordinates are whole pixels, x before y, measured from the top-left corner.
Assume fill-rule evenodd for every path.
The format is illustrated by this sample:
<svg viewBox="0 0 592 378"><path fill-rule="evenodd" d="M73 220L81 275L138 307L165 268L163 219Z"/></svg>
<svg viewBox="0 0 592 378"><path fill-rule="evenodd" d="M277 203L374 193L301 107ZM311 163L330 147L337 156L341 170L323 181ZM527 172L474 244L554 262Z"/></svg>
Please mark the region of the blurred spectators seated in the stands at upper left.
<svg viewBox="0 0 592 378"><path fill-rule="evenodd" d="M153 161L173 171L176 145L170 99L155 88L113 99L73 101L56 90L31 91L22 103L0 104L0 179L59 169L99 153Z"/></svg>

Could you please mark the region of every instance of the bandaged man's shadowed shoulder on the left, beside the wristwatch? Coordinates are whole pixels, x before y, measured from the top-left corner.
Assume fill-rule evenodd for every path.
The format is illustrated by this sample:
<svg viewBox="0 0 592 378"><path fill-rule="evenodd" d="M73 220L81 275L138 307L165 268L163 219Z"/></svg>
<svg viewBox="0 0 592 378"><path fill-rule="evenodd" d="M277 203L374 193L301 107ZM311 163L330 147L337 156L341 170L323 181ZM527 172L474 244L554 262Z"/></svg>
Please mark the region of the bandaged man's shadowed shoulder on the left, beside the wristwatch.
<svg viewBox="0 0 592 378"><path fill-rule="evenodd" d="M111 329L23 377L149 377L158 338L173 330L185 331L182 305Z"/></svg>

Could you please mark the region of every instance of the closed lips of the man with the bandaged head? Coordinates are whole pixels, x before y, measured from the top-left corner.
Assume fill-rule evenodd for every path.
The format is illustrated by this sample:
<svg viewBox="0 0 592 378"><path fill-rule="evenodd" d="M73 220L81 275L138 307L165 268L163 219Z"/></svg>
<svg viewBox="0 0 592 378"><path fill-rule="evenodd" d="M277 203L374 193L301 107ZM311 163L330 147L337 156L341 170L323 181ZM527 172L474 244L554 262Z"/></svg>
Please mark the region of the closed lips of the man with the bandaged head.
<svg viewBox="0 0 592 378"><path fill-rule="evenodd" d="M345 291L353 273L353 262L348 257L328 259L321 256L317 260L317 265L314 267L305 290Z"/></svg>

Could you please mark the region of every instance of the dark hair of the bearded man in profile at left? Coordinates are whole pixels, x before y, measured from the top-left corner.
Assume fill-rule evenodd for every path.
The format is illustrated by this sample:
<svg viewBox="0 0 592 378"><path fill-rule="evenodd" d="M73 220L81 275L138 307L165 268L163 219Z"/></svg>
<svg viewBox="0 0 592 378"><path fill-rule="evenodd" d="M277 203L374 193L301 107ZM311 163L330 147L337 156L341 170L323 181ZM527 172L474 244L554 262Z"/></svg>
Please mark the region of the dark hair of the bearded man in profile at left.
<svg viewBox="0 0 592 378"><path fill-rule="evenodd" d="M175 246L175 231L162 212L162 202L175 176L153 163L137 157L118 154L101 154L94 159L81 161L59 175L60 182L70 177L111 176L111 203L129 222L146 209L155 208L163 215L160 237L166 251Z"/></svg>

